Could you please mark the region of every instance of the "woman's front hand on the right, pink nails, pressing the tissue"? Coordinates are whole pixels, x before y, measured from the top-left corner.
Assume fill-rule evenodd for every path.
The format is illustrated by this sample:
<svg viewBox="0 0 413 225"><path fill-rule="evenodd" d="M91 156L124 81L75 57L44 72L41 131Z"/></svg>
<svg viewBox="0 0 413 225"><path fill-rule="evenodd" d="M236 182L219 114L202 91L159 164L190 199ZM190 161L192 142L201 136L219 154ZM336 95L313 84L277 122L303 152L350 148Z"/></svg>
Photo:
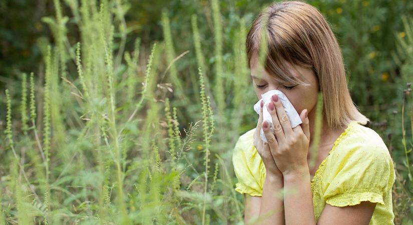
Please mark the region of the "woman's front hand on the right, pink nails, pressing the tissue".
<svg viewBox="0 0 413 225"><path fill-rule="evenodd" d="M308 171L307 153L310 129L307 109L300 113L302 123L291 128L287 113L276 94L271 97L271 101L267 107L272 117L275 136L266 121L262 123L262 129L278 169L284 176Z"/></svg>

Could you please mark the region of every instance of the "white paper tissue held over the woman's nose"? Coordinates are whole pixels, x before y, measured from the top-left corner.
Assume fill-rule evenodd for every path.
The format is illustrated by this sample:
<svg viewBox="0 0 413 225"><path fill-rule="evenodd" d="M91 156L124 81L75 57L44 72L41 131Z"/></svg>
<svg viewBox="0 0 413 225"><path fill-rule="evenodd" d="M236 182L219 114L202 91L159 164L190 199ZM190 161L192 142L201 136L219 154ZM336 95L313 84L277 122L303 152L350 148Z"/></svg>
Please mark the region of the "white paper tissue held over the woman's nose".
<svg viewBox="0 0 413 225"><path fill-rule="evenodd" d="M300 115L295 110L294 106L292 106L287 96L285 96L285 94L279 90L269 90L265 92L264 94L261 94L262 98L259 99L258 102L254 104L254 110L255 112L257 112L257 114L259 114L260 107L261 107L261 100L263 100L264 106L262 108L262 116L263 116L262 121L268 122L268 124L270 125L271 132L274 133L274 125L272 124L272 117L267 109L267 105L269 102L271 102L271 96L274 94L277 94L278 99L281 100L282 106L284 107L284 110L287 113L288 119L290 120L291 127L294 128L297 125L301 124L302 121L301 121ZM264 130L262 130L262 128L261 128L261 139L266 143L268 142L267 138L265 137Z"/></svg>

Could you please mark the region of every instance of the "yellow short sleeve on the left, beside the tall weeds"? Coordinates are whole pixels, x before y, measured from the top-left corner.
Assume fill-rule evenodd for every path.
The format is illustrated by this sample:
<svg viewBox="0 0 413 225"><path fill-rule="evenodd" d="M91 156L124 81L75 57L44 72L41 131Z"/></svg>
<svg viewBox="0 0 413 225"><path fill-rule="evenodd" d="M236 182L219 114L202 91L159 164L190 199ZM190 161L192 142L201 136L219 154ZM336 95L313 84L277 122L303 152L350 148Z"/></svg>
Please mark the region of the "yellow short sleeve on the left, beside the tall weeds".
<svg viewBox="0 0 413 225"><path fill-rule="evenodd" d="M251 196L262 195L263 163L253 144L253 130L238 138L232 154L235 175L238 182L235 190Z"/></svg>

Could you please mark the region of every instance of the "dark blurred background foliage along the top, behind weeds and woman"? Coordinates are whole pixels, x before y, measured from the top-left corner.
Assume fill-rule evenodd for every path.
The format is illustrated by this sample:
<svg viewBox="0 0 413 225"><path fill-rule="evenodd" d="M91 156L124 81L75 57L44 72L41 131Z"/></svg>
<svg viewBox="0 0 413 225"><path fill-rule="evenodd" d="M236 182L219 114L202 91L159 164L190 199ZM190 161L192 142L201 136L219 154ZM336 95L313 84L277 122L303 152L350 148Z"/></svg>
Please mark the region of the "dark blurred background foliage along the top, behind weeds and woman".
<svg viewBox="0 0 413 225"><path fill-rule="evenodd" d="M72 0L64 0L64 14L72 15ZM249 24L268 0L221 0L223 22L224 58L231 55L231 40L241 17ZM402 34L401 15L413 13L410 0L309 0L331 23L344 56L353 100L370 111L373 119L385 119L377 114L391 108L397 92L393 85L399 77L399 67L391 60L395 39ZM127 49L133 48L135 36L142 39L142 47L148 52L151 41L162 40L161 11L168 9L172 35L177 54L191 49L191 15L197 14L203 46L213 46L213 21L208 0L144 0L132 1L125 15L128 31ZM3 0L0 2L0 86L19 80L22 71L38 71L42 60L41 48L47 40L53 41L51 32L41 18L54 15L51 1ZM30 17L30 19L28 19ZM76 17L68 21L73 45L79 31L74 24ZM46 39L47 38L47 39ZM179 44L177 44L179 43ZM203 47L209 64L214 62L214 48ZM44 52L44 50L43 50ZM194 51L190 51L184 63L178 64L182 77L188 77L185 68L195 65ZM191 60L192 59L192 60ZM400 90L400 89L398 89ZM390 94L382 94L383 92ZM380 105L380 106L378 106ZM374 111L376 113L374 113Z"/></svg>

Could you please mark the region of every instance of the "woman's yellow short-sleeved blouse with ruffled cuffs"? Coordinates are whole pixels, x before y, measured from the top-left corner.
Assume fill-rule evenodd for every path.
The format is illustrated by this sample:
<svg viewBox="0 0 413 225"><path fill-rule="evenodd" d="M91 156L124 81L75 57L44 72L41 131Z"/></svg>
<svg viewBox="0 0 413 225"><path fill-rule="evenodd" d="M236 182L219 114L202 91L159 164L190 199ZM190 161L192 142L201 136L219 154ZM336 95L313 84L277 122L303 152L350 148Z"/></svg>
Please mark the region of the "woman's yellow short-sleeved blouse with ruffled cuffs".
<svg viewBox="0 0 413 225"><path fill-rule="evenodd" d="M238 178L235 190L262 196L265 167L253 145L254 130L242 134L234 148L232 162ZM369 224L394 224L391 199L394 180L393 161L381 137L352 121L311 179L315 220L326 203L346 206L371 201L377 204Z"/></svg>

